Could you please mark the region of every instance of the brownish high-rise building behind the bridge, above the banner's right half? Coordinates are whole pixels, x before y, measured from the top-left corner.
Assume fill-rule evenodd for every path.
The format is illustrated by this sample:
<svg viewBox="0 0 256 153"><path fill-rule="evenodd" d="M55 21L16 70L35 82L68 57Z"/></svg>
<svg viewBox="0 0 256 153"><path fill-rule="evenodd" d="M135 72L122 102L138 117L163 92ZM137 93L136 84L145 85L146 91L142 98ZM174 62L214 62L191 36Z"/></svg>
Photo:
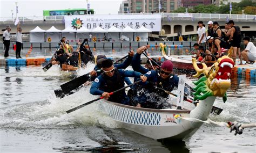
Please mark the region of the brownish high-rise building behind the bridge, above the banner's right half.
<svg viewBox="0 0 256 153"><path fill-rule="evenodd" d="M130 0L130 13L159 12L159 0ZM181 6L181 0L160 0L160 12L172 12Z"/></svg>

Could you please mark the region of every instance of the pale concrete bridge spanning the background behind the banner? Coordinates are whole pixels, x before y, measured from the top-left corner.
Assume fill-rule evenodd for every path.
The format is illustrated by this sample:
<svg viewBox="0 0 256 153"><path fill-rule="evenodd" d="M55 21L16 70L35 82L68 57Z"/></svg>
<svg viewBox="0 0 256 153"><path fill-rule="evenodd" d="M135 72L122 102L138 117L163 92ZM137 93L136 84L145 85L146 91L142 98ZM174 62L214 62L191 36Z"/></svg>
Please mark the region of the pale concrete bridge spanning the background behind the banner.
<svg viewBox="0 0 256 153"><path fill-rule="evenodd" d="M146 13L149 14L149 13ZM183 14L181 17L180 14ZM256 37L256 16L246 14L207 14L207 13L161 13L161 26L165 30L167 38L177 37L179 33L181 35L188 36L197 34L198 21L218 21L221 28L224 28L226 21L234 20L235 25L240 26L242 33L246 35L254 35ZM132 15L132 14L131 14ZM93 15L92 15L93 16ZM64 16L45 16L45 17L19 17L22 22L23 33L29 33L30 30L36 26L41 27L44 30L49 29L54 25L59 30L65 28L63 22ZM0 35L3 34L3 30L6 25L14 25L14 19L0 18ZM14 26L11 31L12 34L16 33ZM159 38L159 32L152 32L149 37Z"/></svg>

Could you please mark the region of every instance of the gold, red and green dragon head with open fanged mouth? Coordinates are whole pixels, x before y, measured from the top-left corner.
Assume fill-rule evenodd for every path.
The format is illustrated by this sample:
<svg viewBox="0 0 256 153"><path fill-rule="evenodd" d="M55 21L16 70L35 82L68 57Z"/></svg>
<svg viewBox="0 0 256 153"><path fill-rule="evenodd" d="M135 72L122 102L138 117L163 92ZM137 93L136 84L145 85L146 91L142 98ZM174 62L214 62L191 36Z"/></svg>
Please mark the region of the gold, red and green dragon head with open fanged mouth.
<svg viewBox="0 0 256 153"><path fill-rule="evenodd" d="M228 56L223 56L215 62L212 67L203 64L203 69L199 69L196 59L192 59L193 67L197 71L193 77L199 77L204 74L197 82L194 82L196 92L194 100L204 100L209 96L223 97L223 101L227 100L226 91L231 86L230 75L234 67L233 60Z"/></svg>

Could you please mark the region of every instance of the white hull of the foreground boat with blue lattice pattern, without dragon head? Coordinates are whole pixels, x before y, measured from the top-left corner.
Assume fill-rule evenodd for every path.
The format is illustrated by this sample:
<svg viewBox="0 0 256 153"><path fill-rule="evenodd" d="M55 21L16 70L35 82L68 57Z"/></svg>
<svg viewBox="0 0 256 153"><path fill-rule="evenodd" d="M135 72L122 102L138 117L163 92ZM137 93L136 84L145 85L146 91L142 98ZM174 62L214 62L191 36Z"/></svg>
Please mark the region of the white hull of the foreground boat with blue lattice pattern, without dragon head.
<svg viewBox="0 0 256 153"><path fill-rule="evenodd" d="M98 111L109 115L112 120L118 122L120 128L131 130L151 139L183 140L196 133L202 125L200 122L191 122L185 118L193 116L197 119L206 119L210 114L215 98L207 100L212 100L212 103L208 103L207 106L196 107L192 111L139 108L100 100ZM177 115L181 118L176 118Z"/></svg>

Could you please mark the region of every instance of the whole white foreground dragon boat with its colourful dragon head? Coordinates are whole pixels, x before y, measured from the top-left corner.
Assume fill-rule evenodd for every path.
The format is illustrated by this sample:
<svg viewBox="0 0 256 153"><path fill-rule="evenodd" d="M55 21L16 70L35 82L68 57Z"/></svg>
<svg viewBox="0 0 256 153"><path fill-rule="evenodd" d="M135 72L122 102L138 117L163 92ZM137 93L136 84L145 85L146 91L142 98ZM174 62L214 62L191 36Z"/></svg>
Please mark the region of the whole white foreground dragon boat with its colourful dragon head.
<svg viewBox="0 0 256 153"><path fill-rule="evenodd" d="M110 116L120 125L120 128L131 130L140 135L155 140L186 139L190 137L203 124L202 122L186 120L193 118L206 120L216 97L227 100L226 91L231 86L230 74L234 62L230 57L223 56L211 67L203 63L198 67L193 59L193 67L197 71L194 77L204 74L197 82L194 90L194 100L199 100L198 105L189 110L177 110L176 106L167 110L139 108L123 104L112 103L107 100L98 101L97 109Z"/></svg>

